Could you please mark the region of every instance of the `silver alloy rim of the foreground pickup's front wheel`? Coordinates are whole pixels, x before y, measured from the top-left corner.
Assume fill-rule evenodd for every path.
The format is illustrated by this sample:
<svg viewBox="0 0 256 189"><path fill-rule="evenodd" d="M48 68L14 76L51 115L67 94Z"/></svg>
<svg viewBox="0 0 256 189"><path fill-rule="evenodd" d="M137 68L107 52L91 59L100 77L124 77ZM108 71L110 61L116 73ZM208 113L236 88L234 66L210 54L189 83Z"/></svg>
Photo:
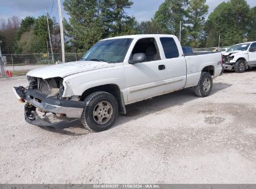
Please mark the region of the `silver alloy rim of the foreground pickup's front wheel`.
<svg viewBox="0 0 256 189"><path fill-rule="evenodd" d="M105 124L112 118L113 107L107 101L101 101L93 108L93 119L97 124Z"/></svg>

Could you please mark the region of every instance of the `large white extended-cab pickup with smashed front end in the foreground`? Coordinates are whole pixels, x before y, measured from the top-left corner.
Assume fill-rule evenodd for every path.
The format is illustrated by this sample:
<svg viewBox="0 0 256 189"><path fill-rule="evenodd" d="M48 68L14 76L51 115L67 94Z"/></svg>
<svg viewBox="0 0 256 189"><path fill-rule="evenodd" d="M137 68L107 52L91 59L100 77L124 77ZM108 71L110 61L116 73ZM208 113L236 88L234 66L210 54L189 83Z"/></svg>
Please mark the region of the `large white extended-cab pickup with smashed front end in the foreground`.
<svg viewBox="0 0 256 189"><path fill-rule="evenodd" d="M91 131L103 131L126 113L127 104L190 87L208 96L221 73L220 52L184 55L174 35L127 35L100 40L80 61L29 71L29 86L14 93L26 102L30 124L66 127L82 121ZM39 112L60 122L45 121Z"/></svg>

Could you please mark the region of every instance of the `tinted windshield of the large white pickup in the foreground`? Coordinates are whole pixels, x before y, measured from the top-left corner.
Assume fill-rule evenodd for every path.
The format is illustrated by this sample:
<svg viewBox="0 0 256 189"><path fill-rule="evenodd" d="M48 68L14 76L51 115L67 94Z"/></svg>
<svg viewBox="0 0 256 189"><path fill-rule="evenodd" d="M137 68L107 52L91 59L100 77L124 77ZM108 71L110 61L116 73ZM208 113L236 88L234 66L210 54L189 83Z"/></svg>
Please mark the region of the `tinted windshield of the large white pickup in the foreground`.
<svg viewBox="0 0 256 189"><path fill-rule="evenodd" d="M108 63L123 62L132 40L110 39L99 41L80 60Z"/></svg>

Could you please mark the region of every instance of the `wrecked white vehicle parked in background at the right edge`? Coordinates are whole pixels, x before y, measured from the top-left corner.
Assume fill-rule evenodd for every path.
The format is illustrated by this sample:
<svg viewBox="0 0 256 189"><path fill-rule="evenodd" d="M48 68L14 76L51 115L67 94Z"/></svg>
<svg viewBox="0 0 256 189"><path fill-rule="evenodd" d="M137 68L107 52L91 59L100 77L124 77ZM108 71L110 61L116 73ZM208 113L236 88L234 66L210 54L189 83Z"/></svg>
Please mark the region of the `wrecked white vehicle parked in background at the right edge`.
<svg viewBox="0 0 256 189"><path fill-rule="evenodd" d="M256 67L256 42L233 45L224 53L224 61L224 70L235 70L237 73Z"/></svg>

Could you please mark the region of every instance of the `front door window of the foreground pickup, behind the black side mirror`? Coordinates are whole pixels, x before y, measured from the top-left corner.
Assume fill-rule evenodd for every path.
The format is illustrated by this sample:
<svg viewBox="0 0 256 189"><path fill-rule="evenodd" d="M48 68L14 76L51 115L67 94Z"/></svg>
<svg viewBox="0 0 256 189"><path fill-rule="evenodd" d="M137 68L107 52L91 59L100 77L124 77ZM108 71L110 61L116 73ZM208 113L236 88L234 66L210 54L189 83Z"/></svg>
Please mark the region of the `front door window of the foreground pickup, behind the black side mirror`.
<svg viewBox="0 0 256 189"><path fill-rule="evenodd" d="M130 60L133 58L135 53L145 53L146 62L161 60L158 45L156 44L156 40L154 38L144 38L138 40L133 48L133 52L131 52Z"/></svg>

